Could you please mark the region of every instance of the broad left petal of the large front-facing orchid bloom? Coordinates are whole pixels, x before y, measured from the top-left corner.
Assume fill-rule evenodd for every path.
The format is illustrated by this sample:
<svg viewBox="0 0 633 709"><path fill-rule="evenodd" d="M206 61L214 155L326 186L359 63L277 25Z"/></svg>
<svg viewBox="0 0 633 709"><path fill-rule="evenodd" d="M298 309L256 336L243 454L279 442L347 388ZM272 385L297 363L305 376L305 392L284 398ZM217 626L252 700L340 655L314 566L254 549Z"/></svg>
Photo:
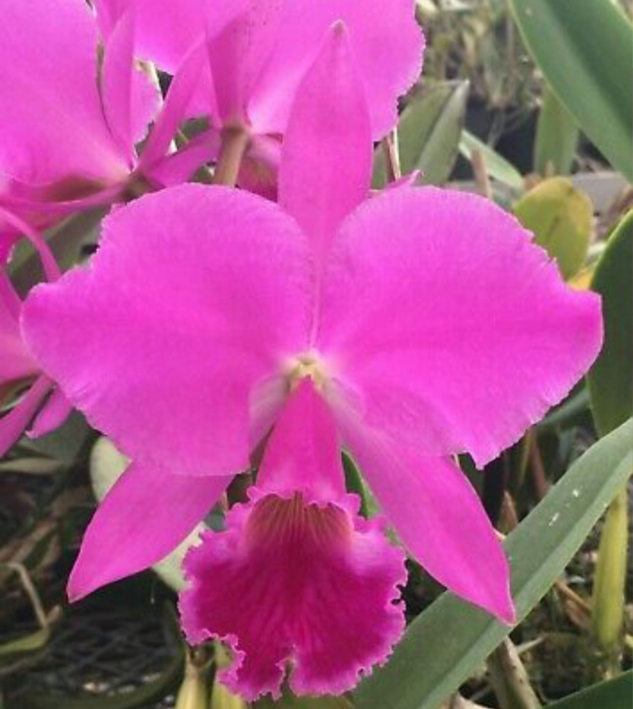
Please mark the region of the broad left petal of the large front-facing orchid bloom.
<svg viewBox="0 0 633 709"><path fill-rule="evenodd" d="M23 333L128 457L229 474L249 464L250 392L306 348L312 279L279 207L181 185L114 211L89 269L31 291Z"/></svg>

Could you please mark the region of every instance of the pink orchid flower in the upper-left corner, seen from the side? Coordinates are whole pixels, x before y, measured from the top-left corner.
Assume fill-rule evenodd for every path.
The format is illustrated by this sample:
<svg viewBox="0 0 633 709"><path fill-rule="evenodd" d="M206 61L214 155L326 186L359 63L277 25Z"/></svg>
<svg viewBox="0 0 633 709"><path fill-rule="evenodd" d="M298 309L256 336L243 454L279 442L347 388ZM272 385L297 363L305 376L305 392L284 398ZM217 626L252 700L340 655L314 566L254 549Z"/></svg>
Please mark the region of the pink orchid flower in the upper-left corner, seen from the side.
<svg viewBox="0 0 633 709"><path fill-rule="evenodd" d="M124 199L140 174L151 181L194 90L189 74L197 82L199 57L197 66L187 57L178 82L185 95L167 101L161 130L139 160L135 143L155 116L159 92L135 67L133 11L102 46L83 0L1 0L0 9L0 204L44 228L77 209ZM1 260L17 238L0 220Z"/></svg>

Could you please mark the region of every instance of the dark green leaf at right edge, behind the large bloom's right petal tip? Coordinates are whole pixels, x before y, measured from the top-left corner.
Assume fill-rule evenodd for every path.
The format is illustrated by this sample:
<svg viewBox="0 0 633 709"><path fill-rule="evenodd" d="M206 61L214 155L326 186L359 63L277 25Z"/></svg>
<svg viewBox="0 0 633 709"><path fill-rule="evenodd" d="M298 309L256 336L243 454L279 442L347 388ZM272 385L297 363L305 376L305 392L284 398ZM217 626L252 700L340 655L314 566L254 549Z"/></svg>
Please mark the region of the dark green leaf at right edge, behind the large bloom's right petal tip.
<svg viewBox="0 0 633 709"><path fill-rule="evenodd" d="M587 379L595 423L612 430L633 411L633 212L612 233L598 265L592 290L603 297L605 342Z"/></svg>

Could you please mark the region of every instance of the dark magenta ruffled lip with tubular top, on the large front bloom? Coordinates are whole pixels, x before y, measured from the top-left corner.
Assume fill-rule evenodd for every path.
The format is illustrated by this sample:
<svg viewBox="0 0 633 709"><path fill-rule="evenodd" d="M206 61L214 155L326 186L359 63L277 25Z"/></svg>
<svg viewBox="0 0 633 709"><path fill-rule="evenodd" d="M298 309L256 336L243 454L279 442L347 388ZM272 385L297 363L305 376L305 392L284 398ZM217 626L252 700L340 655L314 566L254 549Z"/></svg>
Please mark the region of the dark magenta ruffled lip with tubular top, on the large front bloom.
<svg viewBox="0 0 633 709"><path fill-rule="evenodd" d="M186 634L233 647L220 679L247 700L278 697L287 660L296 693L346 691L400 637L404 555L381 523L357 517L342 481L332 415L306 379L279 416L250 502L186 555Z"/></svg>

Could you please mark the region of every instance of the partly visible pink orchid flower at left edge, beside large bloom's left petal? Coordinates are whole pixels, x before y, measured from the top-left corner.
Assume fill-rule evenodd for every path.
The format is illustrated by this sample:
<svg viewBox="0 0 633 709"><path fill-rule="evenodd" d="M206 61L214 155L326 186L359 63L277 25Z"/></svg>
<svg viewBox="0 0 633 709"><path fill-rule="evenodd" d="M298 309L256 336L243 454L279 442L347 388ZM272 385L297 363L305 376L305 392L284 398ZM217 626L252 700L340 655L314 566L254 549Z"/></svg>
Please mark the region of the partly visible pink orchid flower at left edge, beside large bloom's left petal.
<svg viewBox="0 0 633 709"><path fill-rule="evenodd" d="M28 224L0 208L0 218L18 233L26 235L37 250L49 281L60 277L55 258L46 242ZM13 289L4 267L0 269L0 399L6 393L28 386L15 406L0 418L0 456L32 423L28 435L38 437L59 426L72 411L72 405L55 383L40 370L26 347L20 330L21 298Z"/></svg>

